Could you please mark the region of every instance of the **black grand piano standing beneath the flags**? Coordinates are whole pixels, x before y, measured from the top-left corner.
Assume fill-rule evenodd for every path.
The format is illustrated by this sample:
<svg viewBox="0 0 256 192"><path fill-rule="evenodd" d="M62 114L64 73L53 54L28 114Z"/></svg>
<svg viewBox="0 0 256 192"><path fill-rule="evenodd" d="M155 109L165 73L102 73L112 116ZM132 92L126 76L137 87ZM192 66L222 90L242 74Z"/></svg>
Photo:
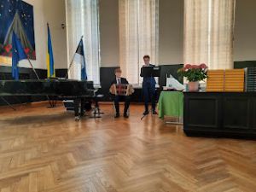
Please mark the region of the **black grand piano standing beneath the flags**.
<svg viewBox="0 0 256 192"><path fill-rule="evenodd" d="M75 119L84 115L84 102L95 96L92 81L70 79L1 80L0 96L47 96L73 100Z"/></svg>

